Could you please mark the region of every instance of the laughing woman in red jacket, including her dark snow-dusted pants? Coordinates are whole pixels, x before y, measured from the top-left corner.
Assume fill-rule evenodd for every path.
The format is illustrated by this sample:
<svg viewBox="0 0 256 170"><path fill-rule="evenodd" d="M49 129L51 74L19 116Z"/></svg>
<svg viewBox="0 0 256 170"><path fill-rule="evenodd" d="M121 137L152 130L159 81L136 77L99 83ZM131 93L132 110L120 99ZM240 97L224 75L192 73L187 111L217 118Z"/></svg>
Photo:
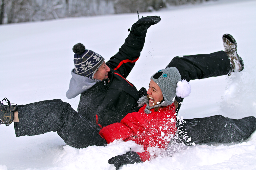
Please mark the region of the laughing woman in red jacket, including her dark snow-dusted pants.
<svg viewBox="0 0 256 170"><path fill-rule="evenodd" d="M156 155L154 152L149 152L149 147L166 149L170 141L183 142L187 145L193 143L195 145L195 142L199 143L197 139L201 137L201 140L207 138L206 142L226 143L248 139L255 131L256 118L253 116L240 120L231 120L220 115L217 118L216 116L202 118L206 119L202 122L207 123L210 123L209 120L213 117L215 117L215 120L222 119L222 122L212 122L210 130L205 128L204 124L194 125L196 128L193 130L188 129L190 125L186 126L187 123L177 124L175 97L176 95L182 98L187 97L191 90L187 81L180 80L181 75L174 67L158 71L151 77L147 91L148 98L144 96L138 102L139 106L144 106L138 112L127 114L121 123L114 123L100 130L99 134L107 143L122 138L124 141L133 140L144 146L145 151L143 153L130 151L124 155L111 158L109 163L114 164L116 169L124 164L150 160L151 157ZM229 120L232 121L229 127L222 126L224 122L227 123ZM198 122L200 122L200 119ZM179 134L176 134L177 126L181 129ZM184 130L183 127L186 127L188 131ZM220 133L219 129L223 133ZM227 133L230 133L230 135ZM175 139L175 135L178 138Z"/></svg>

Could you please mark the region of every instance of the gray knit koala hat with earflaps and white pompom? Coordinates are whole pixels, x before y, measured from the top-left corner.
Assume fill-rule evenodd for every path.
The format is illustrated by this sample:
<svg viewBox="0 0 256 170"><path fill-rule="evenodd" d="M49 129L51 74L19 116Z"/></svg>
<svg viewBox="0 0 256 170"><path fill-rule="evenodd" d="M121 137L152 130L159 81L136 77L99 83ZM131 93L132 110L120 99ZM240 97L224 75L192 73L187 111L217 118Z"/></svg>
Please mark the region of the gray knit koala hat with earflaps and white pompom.
<svg viewBox="0 0 256 170"><path fill-rule="evenodd" d="M181 81L181 75L175 67L170 67L167 69L159 70L155 73L151 79L158 84L162 90L164 101L155 106L149 106L149 101L146 96L138 100L139 106L147 104L145 113L151 113L150 109L157 108L160 106L168 106L172 104L175 97L187 97L191 92L191 86L186 80Z"/></svg>

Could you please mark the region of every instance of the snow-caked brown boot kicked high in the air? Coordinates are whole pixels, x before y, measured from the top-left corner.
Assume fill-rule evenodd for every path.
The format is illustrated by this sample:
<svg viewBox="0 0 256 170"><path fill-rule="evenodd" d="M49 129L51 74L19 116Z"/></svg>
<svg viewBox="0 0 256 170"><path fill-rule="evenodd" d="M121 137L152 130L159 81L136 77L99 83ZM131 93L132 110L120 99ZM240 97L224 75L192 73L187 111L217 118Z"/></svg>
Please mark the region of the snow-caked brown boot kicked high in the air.
<svg viewBox="0 0 256 170"><path fill-rule="evenodd" d="M225 52L227 53L230 64L231 64L231 75L232 72L240 72L244 69L244 63L242 58L237 54L237 42L234 37L230 34L224 34L222 36L223 45Z"/></svg>

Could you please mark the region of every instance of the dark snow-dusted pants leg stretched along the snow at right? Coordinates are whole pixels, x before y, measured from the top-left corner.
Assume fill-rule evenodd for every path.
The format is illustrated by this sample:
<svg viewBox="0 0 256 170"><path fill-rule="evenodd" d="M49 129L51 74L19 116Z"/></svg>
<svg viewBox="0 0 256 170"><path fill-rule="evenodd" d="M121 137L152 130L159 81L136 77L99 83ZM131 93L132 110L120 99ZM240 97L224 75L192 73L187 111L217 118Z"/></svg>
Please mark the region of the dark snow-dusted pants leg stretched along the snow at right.
<svg viewBox="0 0 256 170"><path fill-rule="evenodd" d="M241 142L248 139L256 130L256 118L253 116L236 120L217 115L205 118L184 119L184 121L186 123L179 125L179 127L183 132L187 132L186 135L188 137L191 137L191 141L183 141L188 145L191 145L193 142L196 144Z"/></svg>

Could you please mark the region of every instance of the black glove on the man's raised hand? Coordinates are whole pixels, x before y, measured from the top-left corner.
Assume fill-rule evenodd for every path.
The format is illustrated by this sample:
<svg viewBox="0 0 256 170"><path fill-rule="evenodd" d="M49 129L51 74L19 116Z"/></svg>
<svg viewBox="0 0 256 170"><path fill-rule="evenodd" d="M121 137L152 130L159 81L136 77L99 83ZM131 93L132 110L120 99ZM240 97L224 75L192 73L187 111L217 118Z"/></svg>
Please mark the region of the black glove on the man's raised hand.
<svg viewBox="0 0 256 170"><path fill-rule="evenodd" d="M135 23L135 29L138 32L146 31L151 25L155 25L161 21L159 16L142 17Z"/></svg>

